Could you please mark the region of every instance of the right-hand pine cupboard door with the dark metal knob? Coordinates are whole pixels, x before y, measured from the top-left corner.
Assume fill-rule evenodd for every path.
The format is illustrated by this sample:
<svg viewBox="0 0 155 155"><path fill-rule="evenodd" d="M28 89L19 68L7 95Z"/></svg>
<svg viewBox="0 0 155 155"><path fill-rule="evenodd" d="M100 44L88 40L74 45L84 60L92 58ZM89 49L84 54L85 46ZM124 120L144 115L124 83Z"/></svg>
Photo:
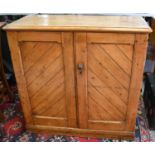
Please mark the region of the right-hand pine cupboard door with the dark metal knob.
<svg viewBox="0 0 155 155"><path fill-rule="evenodd" d="M135 37L75 33L80 128L134 130L146 51Z"/></svg>

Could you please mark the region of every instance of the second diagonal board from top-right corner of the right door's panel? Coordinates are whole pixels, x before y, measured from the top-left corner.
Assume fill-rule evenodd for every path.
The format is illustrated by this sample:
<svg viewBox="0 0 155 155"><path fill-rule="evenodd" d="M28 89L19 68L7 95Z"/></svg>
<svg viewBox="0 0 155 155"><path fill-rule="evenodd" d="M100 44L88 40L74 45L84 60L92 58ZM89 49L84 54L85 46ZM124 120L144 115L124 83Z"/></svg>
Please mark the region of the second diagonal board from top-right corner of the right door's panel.
<svg viewBox="0 0 155 155"><path fill-rule="evenodd" d="M114 44L98 45L103 52L108 55L126 74L131 75L131 61L122 53L122 51Z"/></svg>

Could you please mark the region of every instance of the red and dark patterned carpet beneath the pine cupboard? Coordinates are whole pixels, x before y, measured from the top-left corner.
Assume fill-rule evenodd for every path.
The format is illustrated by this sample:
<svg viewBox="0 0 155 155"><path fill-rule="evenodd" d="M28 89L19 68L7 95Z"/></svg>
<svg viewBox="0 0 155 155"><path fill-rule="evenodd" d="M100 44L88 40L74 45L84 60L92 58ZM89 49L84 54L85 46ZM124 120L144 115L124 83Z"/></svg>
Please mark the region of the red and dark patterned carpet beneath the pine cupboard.
<svg viewBox="0 0 155 155"><path fill-rule="evenodd" d="M18 99L16 88L12 88L16 94L16 99L11 102L8 96L0 99L0 111L4 121L0 124L0 141L1 142L116 142L118 140L106 138L80 138L69 136L50 136L48 134L34 134L25 131L23 113ZM125 140L122 140L125 141ZM139 102L139 110L136 119L135 137L136 142L149 142L150 131L148 129L144 104L142 98Z"/></svg>

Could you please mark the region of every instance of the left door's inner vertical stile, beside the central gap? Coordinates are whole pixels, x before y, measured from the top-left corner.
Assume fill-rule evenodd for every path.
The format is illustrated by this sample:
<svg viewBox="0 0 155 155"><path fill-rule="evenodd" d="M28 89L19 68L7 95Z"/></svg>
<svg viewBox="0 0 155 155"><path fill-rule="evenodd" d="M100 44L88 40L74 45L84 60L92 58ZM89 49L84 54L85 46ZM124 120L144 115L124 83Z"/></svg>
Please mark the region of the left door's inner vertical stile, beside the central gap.
<svg viewBox="0 0 155 155"><path fill-rule="evenodd" d="M73 33L62 32L62 47L65 72L65 94L68 127L77 127L77 111L75 101L75 68Z"/></svg>

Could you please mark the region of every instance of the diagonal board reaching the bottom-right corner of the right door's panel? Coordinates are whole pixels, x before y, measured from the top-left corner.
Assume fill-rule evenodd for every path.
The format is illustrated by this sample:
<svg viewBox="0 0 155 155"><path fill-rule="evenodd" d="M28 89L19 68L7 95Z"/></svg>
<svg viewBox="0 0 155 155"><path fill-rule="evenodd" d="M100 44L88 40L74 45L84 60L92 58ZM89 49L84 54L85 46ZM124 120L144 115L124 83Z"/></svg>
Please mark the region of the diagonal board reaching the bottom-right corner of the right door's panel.
<svg viewBox="0 0 155 155"><path fill-rule="evenodd" d="M103 106L104 109L106 109L106 111L110 113L111 116L114 117L113 118L114 120L121 121L125 119L124 114L121 113L117 107L112 105L102 94L100 94L90 84L88 85L88 95L91 96L100 106ZM96 106L98 105L96 104Z"/></svg>

